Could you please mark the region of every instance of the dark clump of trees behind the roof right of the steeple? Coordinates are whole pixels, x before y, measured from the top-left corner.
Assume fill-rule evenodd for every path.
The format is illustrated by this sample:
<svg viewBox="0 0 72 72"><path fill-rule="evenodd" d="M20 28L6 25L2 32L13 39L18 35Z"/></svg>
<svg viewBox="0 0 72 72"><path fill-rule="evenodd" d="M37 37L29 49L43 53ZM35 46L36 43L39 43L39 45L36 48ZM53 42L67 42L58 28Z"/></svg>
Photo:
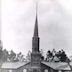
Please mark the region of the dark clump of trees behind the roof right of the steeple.
<svg viewBox="0 0 72 72"><path fill-rule="evenodd" d="M59 50L58 52L56 52L55 49L53 49L52 52L50 50L47 51L46 61L67 62L70 60L68 59L68 57L63 49Z"/></svg>

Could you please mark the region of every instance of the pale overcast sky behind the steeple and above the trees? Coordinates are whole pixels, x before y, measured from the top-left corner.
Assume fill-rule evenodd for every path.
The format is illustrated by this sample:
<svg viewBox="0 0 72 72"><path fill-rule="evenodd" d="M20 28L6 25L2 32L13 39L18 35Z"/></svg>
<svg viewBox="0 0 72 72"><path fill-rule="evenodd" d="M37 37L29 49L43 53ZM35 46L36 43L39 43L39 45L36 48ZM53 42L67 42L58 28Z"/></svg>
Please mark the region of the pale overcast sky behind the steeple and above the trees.
<svg viewBox="0 0 72 72"><path fill-rule="evenodd" d="M35 0L2 0L3 48L27 54L32 49ZM38 0L40 49L64 49L72 55L72 0Z"/></svg>

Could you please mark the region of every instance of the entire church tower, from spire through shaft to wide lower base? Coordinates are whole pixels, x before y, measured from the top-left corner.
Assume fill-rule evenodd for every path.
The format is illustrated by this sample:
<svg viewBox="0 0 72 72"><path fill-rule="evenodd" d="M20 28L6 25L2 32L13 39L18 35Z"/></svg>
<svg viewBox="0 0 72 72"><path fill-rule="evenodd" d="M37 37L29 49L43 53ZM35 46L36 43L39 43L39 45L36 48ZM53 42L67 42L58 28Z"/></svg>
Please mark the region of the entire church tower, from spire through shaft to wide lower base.
<svg viewBox="0 0 72 72"><path fill-rule="evenodd" d="M36 70L36 72L40 72L41 54L39 51L39 42L40 42L40 38L38 35L38 19L37 19L37 12L36 12L34 35L32 38L31 66L38 67L38 69L33 69L33 72L34 70Z"/></svg>

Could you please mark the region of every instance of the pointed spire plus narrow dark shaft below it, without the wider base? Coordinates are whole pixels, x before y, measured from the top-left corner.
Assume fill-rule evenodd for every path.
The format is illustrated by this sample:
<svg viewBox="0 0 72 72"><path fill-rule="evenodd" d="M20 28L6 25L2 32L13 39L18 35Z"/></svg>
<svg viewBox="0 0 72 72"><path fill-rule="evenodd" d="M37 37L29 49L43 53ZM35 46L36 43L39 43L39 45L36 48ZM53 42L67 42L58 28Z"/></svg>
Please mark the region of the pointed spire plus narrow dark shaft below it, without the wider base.
<svg viewBox="0 0 72 72"><path fill-rule="evenodd" d="M32 52L39 52L37 4L36 4L36 19L35 19L34 35L32 39Z"/></svg>

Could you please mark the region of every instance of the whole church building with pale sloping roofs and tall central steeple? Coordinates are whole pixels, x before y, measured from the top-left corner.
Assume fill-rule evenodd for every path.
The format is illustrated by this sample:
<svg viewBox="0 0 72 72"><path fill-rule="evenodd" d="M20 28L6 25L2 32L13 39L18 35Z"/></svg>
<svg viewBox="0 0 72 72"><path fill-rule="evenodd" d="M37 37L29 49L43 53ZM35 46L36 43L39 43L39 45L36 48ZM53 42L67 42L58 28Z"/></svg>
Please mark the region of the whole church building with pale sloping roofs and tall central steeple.
<svg viewBox="0 0 72 72"><path fill-rule="evenodd" d="M32 38L32 53L30 62L6 62L0 72L72 72L66 62L47 62L41 60L39 50L38 20L36 15L34 35ZM71 64L71 63L70 63ZM72 64L71 64L72 65Z"/></svg>

